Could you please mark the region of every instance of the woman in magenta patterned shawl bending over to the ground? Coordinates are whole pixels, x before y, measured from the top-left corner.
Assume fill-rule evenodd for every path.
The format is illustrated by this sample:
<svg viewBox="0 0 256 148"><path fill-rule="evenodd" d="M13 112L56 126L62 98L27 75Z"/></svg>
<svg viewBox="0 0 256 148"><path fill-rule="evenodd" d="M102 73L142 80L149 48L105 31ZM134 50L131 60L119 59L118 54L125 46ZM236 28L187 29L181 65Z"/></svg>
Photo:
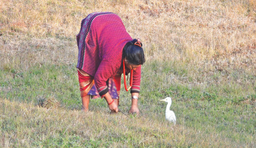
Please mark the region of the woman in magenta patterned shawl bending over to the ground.
<svg viewBox="0 0 256 148"><path fill-rule="evenodd" d="M101 96L111 111L118 112L121 74L131 72L133 99L129 112L139 113L141 65L145 62L140 40L132 39L120 17L112 12L89 14L81 21L76 40L82 109L88 111L91 96Z"/></svg>

